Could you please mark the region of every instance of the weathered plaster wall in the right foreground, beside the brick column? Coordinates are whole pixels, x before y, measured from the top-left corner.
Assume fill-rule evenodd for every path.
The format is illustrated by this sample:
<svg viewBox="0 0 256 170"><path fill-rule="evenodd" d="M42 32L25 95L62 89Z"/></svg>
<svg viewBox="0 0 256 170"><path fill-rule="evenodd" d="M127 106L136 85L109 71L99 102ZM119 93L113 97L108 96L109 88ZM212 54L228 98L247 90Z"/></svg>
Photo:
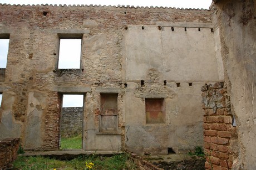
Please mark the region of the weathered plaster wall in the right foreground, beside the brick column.
<svg viewBox="0 0 256 170"><path fill-rule="evenodd" d="M234 169L255 169L255 8L256 2L218 1L212 7L213 23L219 29L225 82L237 121L238 143Z"/></svg>

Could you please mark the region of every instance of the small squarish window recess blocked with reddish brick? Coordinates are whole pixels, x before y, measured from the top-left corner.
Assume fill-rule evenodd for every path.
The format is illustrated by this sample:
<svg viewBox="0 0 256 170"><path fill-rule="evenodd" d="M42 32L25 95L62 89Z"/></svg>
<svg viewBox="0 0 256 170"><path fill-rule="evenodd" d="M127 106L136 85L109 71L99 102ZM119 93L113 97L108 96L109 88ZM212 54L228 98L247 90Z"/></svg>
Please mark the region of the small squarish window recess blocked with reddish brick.
<svg viewBox="0 0 256 170"><path fill-rule="evenodd" d="M146 123L165 123L165 105L163 98L146 98Z"/></svg>

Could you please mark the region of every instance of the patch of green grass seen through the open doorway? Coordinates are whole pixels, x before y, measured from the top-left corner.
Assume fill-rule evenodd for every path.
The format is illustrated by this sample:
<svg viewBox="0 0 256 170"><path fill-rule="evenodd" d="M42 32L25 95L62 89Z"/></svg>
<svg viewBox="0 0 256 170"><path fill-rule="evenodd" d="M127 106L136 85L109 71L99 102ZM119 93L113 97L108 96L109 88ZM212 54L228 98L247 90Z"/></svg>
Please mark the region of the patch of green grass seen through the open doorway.
<svg viewBox="0 0 256 170"><path fill-rule="evenodd" d="M70 138L61 138L61 150L65 149L81 149L82 148L82 135Z"/></svg>

